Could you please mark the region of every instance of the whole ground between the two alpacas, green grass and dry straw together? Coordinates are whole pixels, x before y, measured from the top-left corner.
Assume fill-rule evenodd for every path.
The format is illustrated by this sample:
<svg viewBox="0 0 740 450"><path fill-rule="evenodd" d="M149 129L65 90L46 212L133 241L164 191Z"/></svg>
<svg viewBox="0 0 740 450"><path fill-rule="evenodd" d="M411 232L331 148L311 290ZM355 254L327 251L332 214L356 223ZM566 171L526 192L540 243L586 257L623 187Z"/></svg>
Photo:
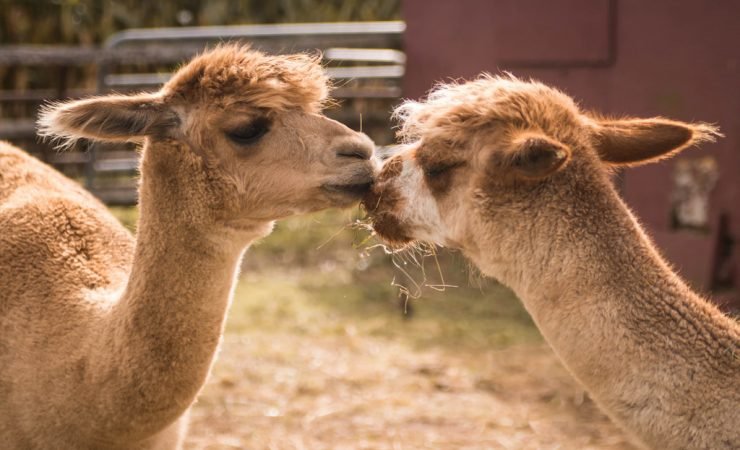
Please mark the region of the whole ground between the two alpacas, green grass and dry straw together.
<svg viewBox="0 0 740 450"><path fill-rule="evenodd" d="M240 282L187 449L634 448L505 288L407 319L384 272L328 267Z"/></svg>

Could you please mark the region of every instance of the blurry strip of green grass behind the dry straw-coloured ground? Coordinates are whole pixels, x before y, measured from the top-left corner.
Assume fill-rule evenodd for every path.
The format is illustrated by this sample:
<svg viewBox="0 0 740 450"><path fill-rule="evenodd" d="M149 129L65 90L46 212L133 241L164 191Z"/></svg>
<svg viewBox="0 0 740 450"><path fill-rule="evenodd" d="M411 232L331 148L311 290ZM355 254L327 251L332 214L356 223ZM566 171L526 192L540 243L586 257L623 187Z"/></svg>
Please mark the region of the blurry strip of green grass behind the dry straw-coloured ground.
<svg viewBox="0 0 740 450"><path fill-rule="evenodd" d="M466 283L444 292L426 288L421 297L404 304L399 287L392 284L394 275L382 261L364 272L335 267L247 273L237 286L227 333L272 330L326 336L349 330L451 351L541 342L519 300L503 286Z"/></svg>

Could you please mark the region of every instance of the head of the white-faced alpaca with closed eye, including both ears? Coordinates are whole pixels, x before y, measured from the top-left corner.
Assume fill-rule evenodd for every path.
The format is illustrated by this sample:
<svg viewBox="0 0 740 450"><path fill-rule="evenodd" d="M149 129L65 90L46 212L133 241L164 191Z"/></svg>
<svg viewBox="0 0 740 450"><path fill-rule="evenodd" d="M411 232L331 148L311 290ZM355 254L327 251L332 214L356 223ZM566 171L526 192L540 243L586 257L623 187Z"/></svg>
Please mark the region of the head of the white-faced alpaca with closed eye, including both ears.
<svg viewBox="0 0 740 450"><path fill-rule="evenodd" d="M439 86L396 116L405 143L363 201L375 231L397 247L426 240L468 253L506 254L502 246L515 247L535 221L556 221L540 207L568 208L584 176L604 180L609 166L654 161L717 134L704 124L601 119L511 76Z"/></svg>

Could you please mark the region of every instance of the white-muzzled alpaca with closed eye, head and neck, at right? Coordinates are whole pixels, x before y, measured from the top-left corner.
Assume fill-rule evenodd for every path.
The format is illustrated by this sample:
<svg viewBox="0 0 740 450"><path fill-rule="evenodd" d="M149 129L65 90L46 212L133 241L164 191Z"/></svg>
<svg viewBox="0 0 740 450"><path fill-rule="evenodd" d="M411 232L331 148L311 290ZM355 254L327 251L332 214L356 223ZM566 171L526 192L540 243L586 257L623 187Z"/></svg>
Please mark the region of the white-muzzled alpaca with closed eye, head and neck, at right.
<svg viewBox="0 0 740 450"><path fill-rule="evenodd" d="M740 326L671 270L609 178L715 128L600 118L540 83L490 75L396 115L405 145L363 199L381 238L460 249L511 287L573 376L643 444L740 448Z"/></svg>

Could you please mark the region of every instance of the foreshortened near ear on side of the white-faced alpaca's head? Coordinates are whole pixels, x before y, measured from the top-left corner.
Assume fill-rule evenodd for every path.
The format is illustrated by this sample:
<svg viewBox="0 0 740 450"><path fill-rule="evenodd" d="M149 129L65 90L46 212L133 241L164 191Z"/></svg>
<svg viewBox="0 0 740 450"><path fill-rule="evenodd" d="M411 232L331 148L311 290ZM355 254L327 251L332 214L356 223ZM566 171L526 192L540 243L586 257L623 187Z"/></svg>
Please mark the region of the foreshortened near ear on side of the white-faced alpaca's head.
<svg viewBox="0 0 740 450"><path fill-rule="evenodd" d="M560 169L569 158L570 151L563 144L544 136L529 136L514 141L506 165L524 178L539 179Z"/></svg>

